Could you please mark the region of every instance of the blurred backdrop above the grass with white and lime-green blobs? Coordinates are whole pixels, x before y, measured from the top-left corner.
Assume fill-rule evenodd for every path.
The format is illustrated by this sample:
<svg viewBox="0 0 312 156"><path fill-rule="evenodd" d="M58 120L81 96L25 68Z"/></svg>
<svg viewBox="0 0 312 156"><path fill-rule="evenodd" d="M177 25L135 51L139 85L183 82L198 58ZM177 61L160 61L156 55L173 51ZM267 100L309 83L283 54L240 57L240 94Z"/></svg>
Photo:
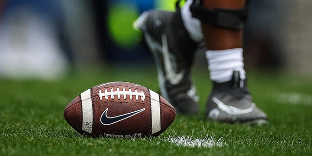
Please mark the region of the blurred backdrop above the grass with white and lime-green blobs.
<svg viewBox="0 0 312 156"><path fill-rule="evenodd" d="M176 0L0 0L0 77L61 78L92 66L153 66L132 23ZM312 73L312 1L253 0L245 67ZM196 67L207 68L204 53ZM207 71L208 72L208 71Z"/></svg>

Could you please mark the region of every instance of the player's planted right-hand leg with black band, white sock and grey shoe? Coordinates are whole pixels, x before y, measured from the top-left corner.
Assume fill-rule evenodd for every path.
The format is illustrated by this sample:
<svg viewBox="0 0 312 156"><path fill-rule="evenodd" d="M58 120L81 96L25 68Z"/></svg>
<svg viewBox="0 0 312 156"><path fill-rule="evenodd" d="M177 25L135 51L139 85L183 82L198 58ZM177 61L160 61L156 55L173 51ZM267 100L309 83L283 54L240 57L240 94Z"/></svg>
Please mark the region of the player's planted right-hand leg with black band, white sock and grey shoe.
<svg viewBox="0 0 312 156"><path fill-rule="evenodd" d="M191 11L193 17L201 21L203 37L197 37L206 42L210 78L214 84L207 102L207 118L260 124L266 122L267 117L252 100L243 68L245 3L245 0L193 0ZM187 16L187 11L182 12L190 34L200 27L193 17Z"/></svg>

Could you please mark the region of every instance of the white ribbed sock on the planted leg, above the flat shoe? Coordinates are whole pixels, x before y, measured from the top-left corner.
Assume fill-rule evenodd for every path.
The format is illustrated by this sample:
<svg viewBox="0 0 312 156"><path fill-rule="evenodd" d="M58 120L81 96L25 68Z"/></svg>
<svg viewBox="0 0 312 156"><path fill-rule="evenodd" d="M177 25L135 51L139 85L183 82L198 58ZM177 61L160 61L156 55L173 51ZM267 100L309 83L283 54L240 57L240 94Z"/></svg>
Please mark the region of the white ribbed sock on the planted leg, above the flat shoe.
<svg viewBox="0 0 312 156"><path fill-rule="evenodd" d="M245 79L243 49L207 50L210 79L221 83L232 79L233 71L239 71L240 78Z"/></svg>

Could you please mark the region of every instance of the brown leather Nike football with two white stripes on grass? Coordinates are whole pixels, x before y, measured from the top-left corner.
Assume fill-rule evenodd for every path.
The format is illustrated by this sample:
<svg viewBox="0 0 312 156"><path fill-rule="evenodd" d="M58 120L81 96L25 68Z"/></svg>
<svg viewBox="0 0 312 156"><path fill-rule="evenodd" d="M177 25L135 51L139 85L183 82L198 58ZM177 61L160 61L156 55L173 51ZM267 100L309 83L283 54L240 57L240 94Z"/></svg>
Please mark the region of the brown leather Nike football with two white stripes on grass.
<svg viewBox="0 0 312 156"><path fill-rule="evenodd" d="M129 82L94 86L64 109L70 126L93 137L156 137L175 117L176 110L166 99Z"/></svg>

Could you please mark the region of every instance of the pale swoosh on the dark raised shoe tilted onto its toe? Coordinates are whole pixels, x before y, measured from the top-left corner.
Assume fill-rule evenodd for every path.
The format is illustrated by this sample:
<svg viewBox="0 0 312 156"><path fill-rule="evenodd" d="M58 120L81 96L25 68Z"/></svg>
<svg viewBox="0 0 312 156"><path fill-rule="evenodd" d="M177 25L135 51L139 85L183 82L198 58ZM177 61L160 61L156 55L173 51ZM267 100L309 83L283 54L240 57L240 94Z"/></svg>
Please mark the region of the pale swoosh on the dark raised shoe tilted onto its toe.
<svg viewBox="0 0 312 156"><path fill-rule="evenodd" d="M166 78L171 84L174 84L174 85L178 84L182 80L185 74L185 70L181 70L179 73L175 72L172 62L171 62L172 60L170 60L166 34L162 34L161 41L162 41L162 52L163 52L162 54L163 54L163 59L164 59Z"/></svg>

